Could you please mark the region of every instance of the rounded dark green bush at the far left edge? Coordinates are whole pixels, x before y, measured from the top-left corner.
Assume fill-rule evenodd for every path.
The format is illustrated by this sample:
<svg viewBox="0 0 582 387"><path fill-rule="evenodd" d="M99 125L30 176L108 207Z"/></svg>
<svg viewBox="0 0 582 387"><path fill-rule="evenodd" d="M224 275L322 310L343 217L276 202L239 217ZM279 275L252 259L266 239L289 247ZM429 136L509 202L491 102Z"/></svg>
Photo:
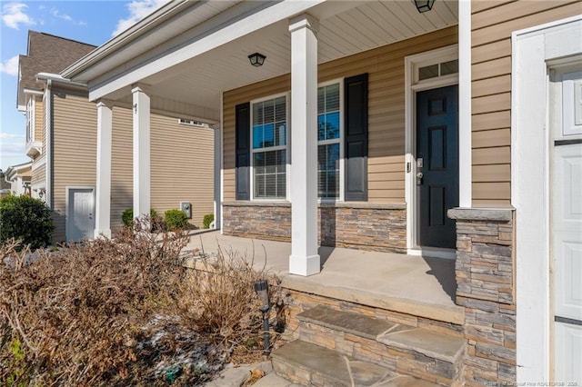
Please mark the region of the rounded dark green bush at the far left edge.
<svg viewBox="0 0 582 387"><path fill-rule="evenodd" d="M0 199L0 242L19 239L32 249L51 242L55 226L46 204L30 196L8 195Z"/></svg>

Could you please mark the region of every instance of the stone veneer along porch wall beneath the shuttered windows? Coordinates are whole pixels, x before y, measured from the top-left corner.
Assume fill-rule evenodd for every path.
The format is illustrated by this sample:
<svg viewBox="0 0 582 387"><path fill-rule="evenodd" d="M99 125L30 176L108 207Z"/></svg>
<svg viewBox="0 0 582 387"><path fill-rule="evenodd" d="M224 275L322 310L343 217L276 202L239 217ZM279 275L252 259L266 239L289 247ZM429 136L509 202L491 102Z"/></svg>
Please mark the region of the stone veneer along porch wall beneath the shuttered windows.
<svg viewBox="0 0 582 387"><path fill-rule="evenodd" d="M320 203L321 245L406 253L406 204ZM223 203L223 233L291 241L291 204Z"/></svg>

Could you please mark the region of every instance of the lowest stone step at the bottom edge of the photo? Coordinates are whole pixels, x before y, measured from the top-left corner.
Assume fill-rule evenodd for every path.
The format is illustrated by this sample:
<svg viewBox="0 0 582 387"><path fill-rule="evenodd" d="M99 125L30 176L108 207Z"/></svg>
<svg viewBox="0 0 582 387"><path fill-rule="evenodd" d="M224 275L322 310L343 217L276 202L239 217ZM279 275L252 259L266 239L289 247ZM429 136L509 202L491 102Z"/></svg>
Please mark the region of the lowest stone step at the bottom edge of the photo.
<svg viewBox="0 0 582 387"><path fill-rule="evenodd" d="M275 372L309 386L418 386L437 384L400 375L371 362L362 362L319 345L288 342L271 354Z"/></svg>

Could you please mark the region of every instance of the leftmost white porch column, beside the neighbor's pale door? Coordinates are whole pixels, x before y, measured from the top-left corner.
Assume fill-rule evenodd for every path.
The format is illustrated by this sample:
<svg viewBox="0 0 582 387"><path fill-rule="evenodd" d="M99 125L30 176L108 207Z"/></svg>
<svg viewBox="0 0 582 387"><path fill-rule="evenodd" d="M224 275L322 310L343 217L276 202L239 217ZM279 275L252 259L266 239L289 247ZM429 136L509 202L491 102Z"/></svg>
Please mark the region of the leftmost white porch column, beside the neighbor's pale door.
<svg viewBox="0 0 582 387"><path fill-rule="evenodd" d="M95 181L95 238L111 238L111 135L113 104L97 103L97 177Z"/></svg>

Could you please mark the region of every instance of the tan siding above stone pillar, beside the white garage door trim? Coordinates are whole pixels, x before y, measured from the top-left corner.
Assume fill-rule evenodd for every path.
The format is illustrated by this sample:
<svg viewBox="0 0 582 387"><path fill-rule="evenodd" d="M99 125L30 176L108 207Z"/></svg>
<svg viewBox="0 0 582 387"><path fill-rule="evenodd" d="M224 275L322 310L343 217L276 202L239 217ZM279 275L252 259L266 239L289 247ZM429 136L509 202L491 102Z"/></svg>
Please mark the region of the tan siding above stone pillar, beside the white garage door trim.
<svg viewBox="0 0 582 387"><path fill-rule="evenodd" d="M473 1L473 205L510 205L511 33L579 15L579 1Z"/></svg>

